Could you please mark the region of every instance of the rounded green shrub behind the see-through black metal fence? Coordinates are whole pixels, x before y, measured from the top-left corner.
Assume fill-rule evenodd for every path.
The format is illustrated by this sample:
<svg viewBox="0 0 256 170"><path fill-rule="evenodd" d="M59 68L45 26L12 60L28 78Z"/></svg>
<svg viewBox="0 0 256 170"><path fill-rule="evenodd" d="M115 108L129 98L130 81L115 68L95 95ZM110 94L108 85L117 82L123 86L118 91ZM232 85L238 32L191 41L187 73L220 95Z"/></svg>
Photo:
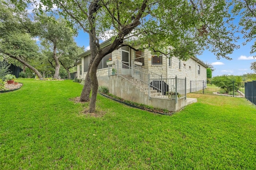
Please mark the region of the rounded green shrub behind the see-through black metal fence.
<svg viewBox="0 0 256 170"><path fill-rule="evenodd" d="M233 76L233 75L222 75L222 76L215 76L211 80L211 84L220 87L225 92L232 92L233 90L239 90L242 82L241 76Z"/></svg>

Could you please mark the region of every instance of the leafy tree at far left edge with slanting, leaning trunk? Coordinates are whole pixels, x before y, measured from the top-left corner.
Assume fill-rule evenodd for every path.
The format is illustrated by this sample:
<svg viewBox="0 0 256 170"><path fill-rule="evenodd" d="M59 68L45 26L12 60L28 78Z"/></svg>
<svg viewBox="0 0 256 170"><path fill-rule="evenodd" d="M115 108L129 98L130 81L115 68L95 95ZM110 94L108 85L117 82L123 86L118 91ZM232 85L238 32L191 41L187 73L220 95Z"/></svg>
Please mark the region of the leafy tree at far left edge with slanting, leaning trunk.
<svg viewBox="0 0 256 170"><path fill-rule="evenodd" d="M39 47L30 35L32 21L26 11L16 10L10 2L0 1L0 53L19 61L33 70L38 77L40 72L29 61L40 55Z"/></svg>

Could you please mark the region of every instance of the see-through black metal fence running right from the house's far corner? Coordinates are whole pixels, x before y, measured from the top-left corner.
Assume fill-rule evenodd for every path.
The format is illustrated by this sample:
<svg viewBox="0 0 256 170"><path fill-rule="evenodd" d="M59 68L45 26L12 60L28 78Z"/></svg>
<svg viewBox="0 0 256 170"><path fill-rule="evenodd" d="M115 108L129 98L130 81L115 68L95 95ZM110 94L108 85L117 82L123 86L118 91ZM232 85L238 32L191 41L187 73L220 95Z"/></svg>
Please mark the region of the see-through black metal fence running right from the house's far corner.
<svg viewBox="0 0 256 170"><path fill-rule="evenodd" d="M245 83L230 81L206 82L204 80L190 81L190 92L244 98Z"/></svg>

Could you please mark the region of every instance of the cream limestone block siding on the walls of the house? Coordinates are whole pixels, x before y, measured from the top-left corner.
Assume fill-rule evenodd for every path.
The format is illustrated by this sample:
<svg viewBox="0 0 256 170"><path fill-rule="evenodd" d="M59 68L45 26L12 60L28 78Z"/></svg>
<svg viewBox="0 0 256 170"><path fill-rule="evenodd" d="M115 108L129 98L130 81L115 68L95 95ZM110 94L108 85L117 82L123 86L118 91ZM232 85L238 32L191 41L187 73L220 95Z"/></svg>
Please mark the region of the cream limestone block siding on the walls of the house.
<svg viewBox="0 0 256 170"><path fill-rule="evenodd" d="M86 52L88 56L88 52ZM130 63L134 63L135 51L130 50ZM187 88L190 86L190 80L205 80L206 81L206 65L197 59L196 57L190 57L187 61L181 61L176 57L171 58L171 66L169 66L169 59L166 56L162 56L162 64L152 64L151 52L148 49L144 50L144 65L142 68L154 72L158 75L162 75L162 78L187 78ZM82 56L82 74L80 74L80 64L77 65L78 78L84 79L87 74L87 70L84 70L84 59L87 57ZM121 61L121 49L112 52L112 61ZM179 66L179 63L181 66ZM198 74L198 65L200 66L200 74ZM180 68L179 68L180 67ZM111 67L112 72L112 67ZM102 68L97 70L97 76L107 76L108 68Z"/></svg>

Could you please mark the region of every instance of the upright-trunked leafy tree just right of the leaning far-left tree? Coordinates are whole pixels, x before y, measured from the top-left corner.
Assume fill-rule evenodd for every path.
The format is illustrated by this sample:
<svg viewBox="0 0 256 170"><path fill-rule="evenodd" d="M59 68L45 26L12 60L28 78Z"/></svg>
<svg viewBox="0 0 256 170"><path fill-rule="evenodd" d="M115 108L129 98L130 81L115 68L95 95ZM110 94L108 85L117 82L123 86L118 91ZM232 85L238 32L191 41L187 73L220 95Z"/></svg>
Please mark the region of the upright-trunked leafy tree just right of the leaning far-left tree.
<svg viewBox="0 0 256 170"><path fill-rule="evenodd" d="M36 21L38 22L34 33L39 36L45 54L48 55L49 62L55 68L54 78L58 78L60 58L65 58L63 59L64 63L68 57L72 57L70 54L78 55L75 52L78 47L74 42L74 31L67 27L66 20L63 18L55 20L53 17L42 15L36 17ZM66 65L64 64L64 66Z"/></svg>

